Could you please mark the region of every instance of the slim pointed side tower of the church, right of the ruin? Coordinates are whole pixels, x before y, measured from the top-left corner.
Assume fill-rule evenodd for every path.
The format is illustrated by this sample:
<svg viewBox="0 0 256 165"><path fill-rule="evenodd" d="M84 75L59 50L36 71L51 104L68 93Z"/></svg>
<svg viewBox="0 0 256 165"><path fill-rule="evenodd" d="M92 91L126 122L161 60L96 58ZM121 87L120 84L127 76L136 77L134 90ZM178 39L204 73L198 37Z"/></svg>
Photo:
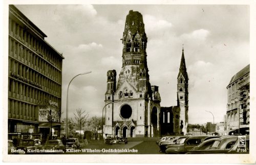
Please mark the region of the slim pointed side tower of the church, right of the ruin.
<svg viewBox="0 0 256 165"><path fill-rule="evenodd" d="M180 106L180 133L186 134L188 124L188 76L183 48L177 78L177 97L177 105Z"/></svg>

